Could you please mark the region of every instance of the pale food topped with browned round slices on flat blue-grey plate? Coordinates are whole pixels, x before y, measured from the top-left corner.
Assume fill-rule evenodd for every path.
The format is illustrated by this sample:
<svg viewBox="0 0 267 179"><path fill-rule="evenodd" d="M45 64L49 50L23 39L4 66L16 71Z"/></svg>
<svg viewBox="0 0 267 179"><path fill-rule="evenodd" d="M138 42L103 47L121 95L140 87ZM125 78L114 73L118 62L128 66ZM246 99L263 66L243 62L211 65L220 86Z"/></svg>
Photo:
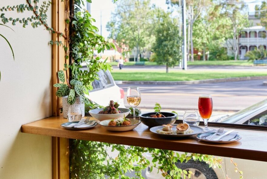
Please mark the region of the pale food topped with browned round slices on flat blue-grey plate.
<svg viewBox="0 0 267 179"><path fill-rule="evenodd" d="M162 125L164 126L161 130L156 130L157 133L161 134L188 134L188 133L193 133L194 131L189 127L188 124L178 124L176 126L176 130L172 130L172 125L167 124L167 125Z"/></svg>

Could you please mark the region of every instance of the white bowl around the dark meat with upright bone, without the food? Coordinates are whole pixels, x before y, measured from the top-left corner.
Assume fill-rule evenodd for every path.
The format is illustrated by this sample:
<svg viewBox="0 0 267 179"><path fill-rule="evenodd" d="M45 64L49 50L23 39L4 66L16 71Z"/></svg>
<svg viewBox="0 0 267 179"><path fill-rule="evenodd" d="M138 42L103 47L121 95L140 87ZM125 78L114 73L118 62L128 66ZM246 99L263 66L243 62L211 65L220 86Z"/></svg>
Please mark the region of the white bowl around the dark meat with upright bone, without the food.
<svg viewBox="0 0 267 179"><path fill-rule="evenodd" d="M125 117L128 116L128 114L130 113L130 109L127 108L118 108L118 110L120 110L123 113L120 114L98 114L100 111L102 111L103 108L99 108L99 109L94 109L94 110L90 110L89 113L91 116L93 116L94 118L96 118L97 120L107 120L107 119L118 119L120 117Z"/></svg>

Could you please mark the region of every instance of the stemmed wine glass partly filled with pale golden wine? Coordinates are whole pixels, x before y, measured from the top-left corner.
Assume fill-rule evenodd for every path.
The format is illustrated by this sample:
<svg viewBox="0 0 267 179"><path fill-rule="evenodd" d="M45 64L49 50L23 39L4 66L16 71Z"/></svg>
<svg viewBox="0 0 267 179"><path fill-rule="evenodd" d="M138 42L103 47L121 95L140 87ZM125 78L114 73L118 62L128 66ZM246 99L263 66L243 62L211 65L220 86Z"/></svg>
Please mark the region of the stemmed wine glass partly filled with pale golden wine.
<svg viewBox="0 0 267 179"><path fill-rule="evenodd" d="M137 86L130 86L127 89L127 102L133 107L134 119L135 119L135 107L141 102L140 89Z"/></svg>

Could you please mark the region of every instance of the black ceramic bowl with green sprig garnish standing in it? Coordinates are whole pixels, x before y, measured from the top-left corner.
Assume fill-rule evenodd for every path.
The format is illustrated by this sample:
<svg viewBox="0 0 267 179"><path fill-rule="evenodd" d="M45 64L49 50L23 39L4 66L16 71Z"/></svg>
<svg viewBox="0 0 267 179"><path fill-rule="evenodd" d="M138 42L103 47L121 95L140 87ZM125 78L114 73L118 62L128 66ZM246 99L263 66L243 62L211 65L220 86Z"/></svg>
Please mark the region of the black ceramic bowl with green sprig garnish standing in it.
<svg viewBox="0 0 267 179"><path fill-rule="evenodd" d="M152 113L142 113L139 115L140 121L148 127L161 126L163 124L173 124L177 119L177 114L169 112L161 112L165 117L155 118L150 117L150 115L156 114Z"/></svg>

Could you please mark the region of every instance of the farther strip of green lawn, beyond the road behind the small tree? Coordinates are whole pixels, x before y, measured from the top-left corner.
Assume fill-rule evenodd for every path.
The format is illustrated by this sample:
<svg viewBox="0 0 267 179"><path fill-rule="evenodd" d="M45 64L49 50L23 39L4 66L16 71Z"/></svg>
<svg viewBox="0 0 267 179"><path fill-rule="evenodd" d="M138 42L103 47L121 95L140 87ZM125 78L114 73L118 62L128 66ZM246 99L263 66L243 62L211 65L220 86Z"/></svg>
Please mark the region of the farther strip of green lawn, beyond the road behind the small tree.
<svg viewBox="0 0 267 179"><path fill-rule="evenodd" d="M112 66L117 66L118 62L109 63ZM133 66L135 62L124 62L125 66ZM188 66L252 66L253 62L247 60L217 60L217 61L201 61L187 62ZM145 62L146 66L157 66L156 62ZM178 64L177 64L178 65Z"/></svg>

